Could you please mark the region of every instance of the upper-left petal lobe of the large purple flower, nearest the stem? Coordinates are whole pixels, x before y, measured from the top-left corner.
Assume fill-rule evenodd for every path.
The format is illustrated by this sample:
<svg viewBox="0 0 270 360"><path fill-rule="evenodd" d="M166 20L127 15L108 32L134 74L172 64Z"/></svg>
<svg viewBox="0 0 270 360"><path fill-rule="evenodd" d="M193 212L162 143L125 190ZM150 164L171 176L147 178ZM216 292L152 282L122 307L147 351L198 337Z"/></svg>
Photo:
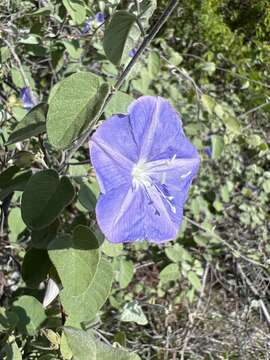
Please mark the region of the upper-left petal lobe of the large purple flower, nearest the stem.
<svg viewBox="0 0 270 360"><path fill-rule="evenodd" d="M90 139L89 148L102 193L131 183L138 155L126 116L106 120Z"/></svg>

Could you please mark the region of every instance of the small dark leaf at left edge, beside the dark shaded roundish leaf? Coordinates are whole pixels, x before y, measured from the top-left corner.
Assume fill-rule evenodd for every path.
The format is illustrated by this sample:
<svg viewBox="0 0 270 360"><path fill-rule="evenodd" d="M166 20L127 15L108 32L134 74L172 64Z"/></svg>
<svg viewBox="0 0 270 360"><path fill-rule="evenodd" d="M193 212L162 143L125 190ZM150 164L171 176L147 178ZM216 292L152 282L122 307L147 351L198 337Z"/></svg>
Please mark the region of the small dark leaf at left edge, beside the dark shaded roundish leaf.
<svg viewBox="0 0 270 360"><path fill-rule="evenodd" d="M13 191L23 191L32 175L30 170L20 170L11 166L0 174L0 200L3 200Z"/></svg>

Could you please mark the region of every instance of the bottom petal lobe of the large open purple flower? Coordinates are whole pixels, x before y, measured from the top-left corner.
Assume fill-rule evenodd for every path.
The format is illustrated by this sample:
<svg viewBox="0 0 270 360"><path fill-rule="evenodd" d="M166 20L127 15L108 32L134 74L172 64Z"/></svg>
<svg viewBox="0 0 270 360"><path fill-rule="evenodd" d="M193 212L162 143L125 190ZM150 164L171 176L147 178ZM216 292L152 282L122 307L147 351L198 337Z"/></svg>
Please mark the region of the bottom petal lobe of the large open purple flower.
<svg viewBox="0 0 270 360"><path fill-rule="evenodd" d="M155 189L150 197L144 188L113 189L100 196L96 214L102 232L113 243L139 240L160 243L174 239L179 228L179 219L171 218Z"/></svg>

